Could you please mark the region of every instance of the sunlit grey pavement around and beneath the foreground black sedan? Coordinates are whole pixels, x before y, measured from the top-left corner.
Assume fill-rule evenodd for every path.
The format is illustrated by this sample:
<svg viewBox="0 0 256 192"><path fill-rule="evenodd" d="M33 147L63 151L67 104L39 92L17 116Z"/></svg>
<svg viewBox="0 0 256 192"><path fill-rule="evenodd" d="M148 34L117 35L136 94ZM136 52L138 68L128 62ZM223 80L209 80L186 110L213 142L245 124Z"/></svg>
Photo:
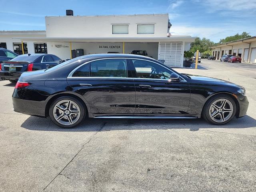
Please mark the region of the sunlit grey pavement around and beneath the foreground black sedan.
<svg viewBox="0 0 256 192"><path fill-rule="evenodd" d="M202 60L176 69L244 86L248 113L195 120L88 119L62 129L12 110L0 81L0 191L255 191L256 65Z"/></svg>

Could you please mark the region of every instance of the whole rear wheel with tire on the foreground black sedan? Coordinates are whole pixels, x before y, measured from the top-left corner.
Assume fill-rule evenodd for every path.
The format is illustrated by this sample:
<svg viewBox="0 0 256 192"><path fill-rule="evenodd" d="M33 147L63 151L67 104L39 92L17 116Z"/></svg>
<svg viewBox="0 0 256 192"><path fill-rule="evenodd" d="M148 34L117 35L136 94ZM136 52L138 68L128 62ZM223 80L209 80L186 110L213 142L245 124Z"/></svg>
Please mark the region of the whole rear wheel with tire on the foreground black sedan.
<svg viewBox="0 0 256 192"><path fill-rule="evenodd" d="M69 107L67 107L68 104ZM62 96L51 104L49 115L52 122L59 127L73 128L84 120L86 116L85 108L78 99L71 96ZM57 120L58 118L59 120Z"/></svg>

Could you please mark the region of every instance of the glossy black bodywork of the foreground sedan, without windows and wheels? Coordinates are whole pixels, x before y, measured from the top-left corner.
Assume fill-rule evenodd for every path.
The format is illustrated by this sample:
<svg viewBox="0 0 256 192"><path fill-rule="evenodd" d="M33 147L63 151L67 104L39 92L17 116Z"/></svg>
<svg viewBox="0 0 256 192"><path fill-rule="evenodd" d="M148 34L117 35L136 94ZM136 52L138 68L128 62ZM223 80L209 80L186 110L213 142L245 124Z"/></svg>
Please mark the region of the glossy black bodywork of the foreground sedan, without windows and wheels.
<svg viewBox="0 0 256 192"><path fill-rule="evenodd" d="M80 65L102 58L126 58L128 77L67 78ZM129 54L94 54L74 58L55 68L22 74L19 81L28 82L30 86L14 90L14 110L29 115L48 116L49 106L55 98L72 95L84 103L89 117L161 115L200 118L206 101L215 94L225 93L238 104L236 116L246 114L248 100L237 92L242 89L241 86L215 78L179 74L172 69L181 77L180 80L137 78L130 62L132 58L168 68L152 58Z"/></svg>

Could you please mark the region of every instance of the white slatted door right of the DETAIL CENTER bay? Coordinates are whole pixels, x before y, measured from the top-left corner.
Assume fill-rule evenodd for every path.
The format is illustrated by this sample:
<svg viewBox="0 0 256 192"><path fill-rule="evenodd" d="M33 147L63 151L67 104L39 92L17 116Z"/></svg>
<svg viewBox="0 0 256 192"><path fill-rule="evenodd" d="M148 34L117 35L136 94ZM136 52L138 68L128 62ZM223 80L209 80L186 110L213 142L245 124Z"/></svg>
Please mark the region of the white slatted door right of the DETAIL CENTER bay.
<svg viewBox="0 0 256 192"><path fill-rule="evenodd" d="M182 42L160 42L159 60L170 67L180 67L182 58Z"/></svg>

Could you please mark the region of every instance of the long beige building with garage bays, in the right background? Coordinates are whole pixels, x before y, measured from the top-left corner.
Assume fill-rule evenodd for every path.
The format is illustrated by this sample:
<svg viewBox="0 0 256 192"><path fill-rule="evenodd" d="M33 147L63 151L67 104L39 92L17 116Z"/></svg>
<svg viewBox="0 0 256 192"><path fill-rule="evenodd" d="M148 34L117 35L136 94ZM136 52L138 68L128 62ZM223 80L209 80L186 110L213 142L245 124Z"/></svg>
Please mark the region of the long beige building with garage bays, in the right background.
<svg viewBox="0 0 256 192"><path fill-rule="evenodd" d="M240 56L242 62L256 63L256 36L222 43L211 48L212 55L216 56L216 60L219 60L224 54L230 54Z"/></svg>

